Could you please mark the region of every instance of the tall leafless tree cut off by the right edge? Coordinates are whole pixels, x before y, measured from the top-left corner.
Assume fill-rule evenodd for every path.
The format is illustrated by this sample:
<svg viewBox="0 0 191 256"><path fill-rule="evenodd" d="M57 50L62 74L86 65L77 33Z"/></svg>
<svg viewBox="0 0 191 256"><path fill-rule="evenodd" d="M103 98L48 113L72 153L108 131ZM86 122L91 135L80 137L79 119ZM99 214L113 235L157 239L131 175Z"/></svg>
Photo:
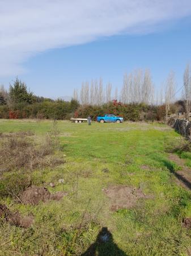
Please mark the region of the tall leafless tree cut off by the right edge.
<svg viewBox="0 0 191 256"><path fill-rule="evenodd" d="M185 109L187 117L189 118L189 112L191 107L191 67L189 64L186 65L184 71L184 99L185 99Z"/></svg>

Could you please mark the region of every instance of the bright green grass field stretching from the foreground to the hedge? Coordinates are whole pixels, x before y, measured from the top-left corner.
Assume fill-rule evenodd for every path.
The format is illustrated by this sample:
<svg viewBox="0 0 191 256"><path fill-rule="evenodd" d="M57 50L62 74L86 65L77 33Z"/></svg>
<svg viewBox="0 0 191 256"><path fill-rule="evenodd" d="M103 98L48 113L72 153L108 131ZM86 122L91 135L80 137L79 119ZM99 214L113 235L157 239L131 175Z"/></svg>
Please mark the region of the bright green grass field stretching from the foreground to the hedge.
<svg viewBox="0 0 191 256"><path fill-rule="evenodd" d="M1 120L0 133L32 131L40 141L52 126L52 121ZM2 197L1 204L32 214L35 222L28 229L2 222L1 255L82 255L103 227L113 240L83 255L191 255L191 230L182 226L183 218L191 217L191 193L177 185L169 166L180 167L165 151L179 137L175 131L158 123L66 121L58 121L57 129L66 163L35 170L32 179L44 181L50 192L69 194L36 206ZM141 189L147 198L112 211L103 189L114 185Z"/></svg>

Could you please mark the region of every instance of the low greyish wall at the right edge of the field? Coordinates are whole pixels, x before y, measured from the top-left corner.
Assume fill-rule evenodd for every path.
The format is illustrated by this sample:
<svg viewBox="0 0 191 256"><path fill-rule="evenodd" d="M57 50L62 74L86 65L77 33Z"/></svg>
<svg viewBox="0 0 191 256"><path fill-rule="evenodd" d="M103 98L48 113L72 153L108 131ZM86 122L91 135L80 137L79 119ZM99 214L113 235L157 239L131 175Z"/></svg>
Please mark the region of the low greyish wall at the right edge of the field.
<svg viewBox="0 0 191 256"><path fill-rule="evenodd" d="M186 139L191 139L191 122L183 119L171 118L168 125L173 127L178 133Z"/></svg>

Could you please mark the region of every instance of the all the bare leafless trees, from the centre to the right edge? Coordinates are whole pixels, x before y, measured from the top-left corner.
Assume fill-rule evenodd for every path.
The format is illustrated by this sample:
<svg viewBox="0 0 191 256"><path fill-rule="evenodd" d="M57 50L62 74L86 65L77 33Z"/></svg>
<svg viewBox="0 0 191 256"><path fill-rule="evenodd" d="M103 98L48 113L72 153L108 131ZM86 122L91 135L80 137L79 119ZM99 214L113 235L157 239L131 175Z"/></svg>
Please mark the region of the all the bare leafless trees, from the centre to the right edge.
<svg viewBox="0 0 191 256"><path fill-rule="evenodd" d="M191 111L191 68L186 65L183 85L181 110L189 114ZM73 98L81 105L101 106L111 100L117 100L122 104L146 104L165 106L165 115L171 114L174 109L173 104L176 101L177 82L175 72L170 71L167 79L160 88L155 89L149 69L143 71L136 69L133 72L125 73L121 91L118 88L112 90L112 84L109 82L103 86L103 79L92 80L91 82L82 82L80 90L74 89Z"/></svg>

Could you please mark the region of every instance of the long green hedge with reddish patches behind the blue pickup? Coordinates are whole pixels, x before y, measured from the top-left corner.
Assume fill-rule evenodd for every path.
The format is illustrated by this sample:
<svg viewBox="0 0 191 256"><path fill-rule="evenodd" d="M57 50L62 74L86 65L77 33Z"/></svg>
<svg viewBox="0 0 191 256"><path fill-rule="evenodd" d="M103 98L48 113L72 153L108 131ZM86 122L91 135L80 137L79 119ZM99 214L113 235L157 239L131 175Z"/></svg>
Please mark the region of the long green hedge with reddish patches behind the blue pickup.
<svg viewBox="0 0 191 256"><path fill-rule="evenodd" d="M126 121L162 120L165 115L164 106L149 106L145 104L122 104L112 101L101 106L82 106L75 100L43 101L33 104L19 103L11 106L0 106L0 118L40 118L40 119L70 119L71 117L86 118L91 115L96 120L98 115L116 114Z"/></svg>

